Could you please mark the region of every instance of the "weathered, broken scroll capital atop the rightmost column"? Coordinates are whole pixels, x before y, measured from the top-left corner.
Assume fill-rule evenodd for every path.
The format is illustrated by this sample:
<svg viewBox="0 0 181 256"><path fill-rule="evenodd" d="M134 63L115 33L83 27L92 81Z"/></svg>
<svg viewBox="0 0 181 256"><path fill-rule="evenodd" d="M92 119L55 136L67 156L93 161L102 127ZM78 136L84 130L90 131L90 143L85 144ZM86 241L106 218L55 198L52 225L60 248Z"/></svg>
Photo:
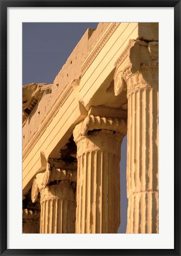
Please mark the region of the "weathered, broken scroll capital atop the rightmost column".
<svg viewBox="0 0 181 256"><path fill-rule="evenodd" d="M115 95L119 95L121 91L127 89L129 97L135 89L152 87L158 82L158 63L158 41L146 43L141 40L130 40L115 63Z"/></svg>

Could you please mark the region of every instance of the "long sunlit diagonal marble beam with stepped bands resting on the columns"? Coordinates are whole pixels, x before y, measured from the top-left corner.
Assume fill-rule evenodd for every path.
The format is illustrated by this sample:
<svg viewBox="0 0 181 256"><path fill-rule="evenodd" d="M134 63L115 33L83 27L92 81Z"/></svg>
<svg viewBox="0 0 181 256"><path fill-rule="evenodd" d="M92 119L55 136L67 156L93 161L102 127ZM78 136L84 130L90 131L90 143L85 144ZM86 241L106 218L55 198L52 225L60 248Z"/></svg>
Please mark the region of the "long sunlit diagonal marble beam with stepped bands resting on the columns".
<svg viewBox="0 0 181 256"><path fill-rule="evenodd" d="M23 191L40 171L40 151L50 159L60 159L61 149L73 135L75 125L88 116L93 106L127 110L127 93L114 95L115 63L130 40L143 40L154 48L157 41L156 23L110 23L95 41L75 77L61 91L57 100L23 149ZM57 85L54 84L54 88ZM55 90L56 92L56 90ZM91 110L93 111L93 110Z"/></svg>

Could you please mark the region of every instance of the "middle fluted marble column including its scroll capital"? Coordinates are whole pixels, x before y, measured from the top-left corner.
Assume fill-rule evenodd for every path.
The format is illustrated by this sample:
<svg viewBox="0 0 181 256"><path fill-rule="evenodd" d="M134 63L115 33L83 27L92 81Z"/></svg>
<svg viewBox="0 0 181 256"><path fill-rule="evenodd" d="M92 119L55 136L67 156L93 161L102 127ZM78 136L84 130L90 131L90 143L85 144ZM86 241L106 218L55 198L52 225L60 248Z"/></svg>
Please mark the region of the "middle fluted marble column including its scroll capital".
<svg viewBox="0 0 181 256"><path fill-rule="evenodd" d="M78 164L75 232L117 233L120 226L120 148L127 123L121 118L108 117L110 108L106 117L105 113L104 117L93 116L95 108L91 108L88 117L74 130ZM98 112L103 114L103 111Z"/></svg>

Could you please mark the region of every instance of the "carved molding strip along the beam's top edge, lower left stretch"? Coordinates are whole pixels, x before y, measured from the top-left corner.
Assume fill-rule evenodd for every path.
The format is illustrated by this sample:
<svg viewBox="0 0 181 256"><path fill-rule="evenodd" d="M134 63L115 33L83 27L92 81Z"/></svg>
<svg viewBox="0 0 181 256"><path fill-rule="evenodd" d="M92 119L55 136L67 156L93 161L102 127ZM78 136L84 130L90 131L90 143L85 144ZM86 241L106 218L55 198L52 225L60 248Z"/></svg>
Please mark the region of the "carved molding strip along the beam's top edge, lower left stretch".
<svg viewBox="0 0 181 256"><path fill-rule="evenodd" d="M76 81L76 80L75 80ZM54 119L54 117L56 116L56 114L58 113L58 111L60 110L60 108L62 107L62 105L65 103L65 100L67 100L68 96L71 94L71 92L73 91L73 81L69 87L66 89L66 91L60 95L60 98L58 99L57 104L55 105L55 107L53 108L53 110L51 111L50 115L48 116L47 119L45 119L44 123L42 124L40 130L38 130L38 132L35 134L34 137L32 137L31 141L28 143L27 147L25 147L24 152L22 153L22 161L24 161L24 159L27 157L28 153L31 151L31 149L35 146L35 144L37 143L37 141L40 139L40 137L42 136L42 134L45 132L45 130L47 129L47 127L49 126L49 124L51 123L52 119Z"/></svg>

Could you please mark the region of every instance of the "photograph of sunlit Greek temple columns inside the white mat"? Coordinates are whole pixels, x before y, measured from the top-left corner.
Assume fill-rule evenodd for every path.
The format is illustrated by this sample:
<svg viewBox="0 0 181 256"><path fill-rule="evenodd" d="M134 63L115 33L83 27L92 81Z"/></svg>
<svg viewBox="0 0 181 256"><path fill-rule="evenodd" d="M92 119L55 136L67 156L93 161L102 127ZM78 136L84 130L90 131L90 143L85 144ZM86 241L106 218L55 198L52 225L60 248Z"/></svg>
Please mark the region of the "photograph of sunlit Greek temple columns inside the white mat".
<svg viewBox="0 0 181 256"><path fill-rule="evenodd" d="M159 23L22 23L25 233L159 233Z"/></svg>

